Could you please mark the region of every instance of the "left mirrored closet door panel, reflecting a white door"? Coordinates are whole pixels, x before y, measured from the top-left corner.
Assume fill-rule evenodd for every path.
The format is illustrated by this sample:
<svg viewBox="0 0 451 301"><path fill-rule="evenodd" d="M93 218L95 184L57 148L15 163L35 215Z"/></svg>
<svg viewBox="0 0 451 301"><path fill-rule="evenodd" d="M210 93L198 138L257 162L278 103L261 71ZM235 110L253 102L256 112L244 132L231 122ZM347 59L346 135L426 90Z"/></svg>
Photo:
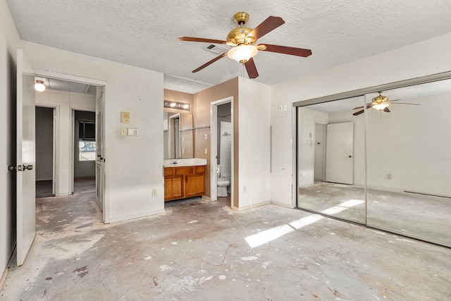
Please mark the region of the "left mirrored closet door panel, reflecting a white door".
<svg viewBox="0 0 451 301"><path fill-rule="evenodd" d="M365 222L364 97L298 108L298 207Z"/></svg>

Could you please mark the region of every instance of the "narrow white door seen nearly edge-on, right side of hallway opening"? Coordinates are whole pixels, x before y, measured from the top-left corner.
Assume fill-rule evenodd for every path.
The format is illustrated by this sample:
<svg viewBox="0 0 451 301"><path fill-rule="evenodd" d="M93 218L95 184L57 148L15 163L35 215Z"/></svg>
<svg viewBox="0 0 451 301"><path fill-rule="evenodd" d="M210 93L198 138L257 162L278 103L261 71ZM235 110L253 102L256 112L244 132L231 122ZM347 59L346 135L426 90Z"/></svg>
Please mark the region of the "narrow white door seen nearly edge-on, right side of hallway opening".
<svg viewBox="0 0 451 301"><path fill-rule="evenodd" d="M96 92L96 202L104 211L104 88ZM105 212L104 212L105 221Z"/></svg>

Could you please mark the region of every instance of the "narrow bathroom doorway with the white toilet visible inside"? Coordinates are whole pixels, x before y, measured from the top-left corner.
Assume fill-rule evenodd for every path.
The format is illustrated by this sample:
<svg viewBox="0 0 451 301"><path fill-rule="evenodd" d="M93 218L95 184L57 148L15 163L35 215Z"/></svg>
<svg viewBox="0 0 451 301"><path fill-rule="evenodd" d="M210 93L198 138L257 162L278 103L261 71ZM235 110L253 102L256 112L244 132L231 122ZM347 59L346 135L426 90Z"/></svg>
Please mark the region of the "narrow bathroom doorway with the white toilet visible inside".
<svg viewBox="0 0 451 301"><path fill-rule="evenodd" d="M233 120L233 97L211 102L211 200L230 207L234 204Z"/></svg>

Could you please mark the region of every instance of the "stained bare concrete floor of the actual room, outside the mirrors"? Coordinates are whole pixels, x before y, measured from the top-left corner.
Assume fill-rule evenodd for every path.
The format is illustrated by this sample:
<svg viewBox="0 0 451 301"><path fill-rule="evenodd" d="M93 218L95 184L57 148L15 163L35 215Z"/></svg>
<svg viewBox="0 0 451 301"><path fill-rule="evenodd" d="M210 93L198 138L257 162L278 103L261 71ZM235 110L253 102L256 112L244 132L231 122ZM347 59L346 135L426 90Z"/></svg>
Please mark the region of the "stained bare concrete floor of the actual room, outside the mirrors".
<svg viewBox="0 0 451 301"><path fill-rule="evenodd" d="M451 250L297 209L200 198L104 225L95 192L38 200L0 300L451 300Z"/></svg>

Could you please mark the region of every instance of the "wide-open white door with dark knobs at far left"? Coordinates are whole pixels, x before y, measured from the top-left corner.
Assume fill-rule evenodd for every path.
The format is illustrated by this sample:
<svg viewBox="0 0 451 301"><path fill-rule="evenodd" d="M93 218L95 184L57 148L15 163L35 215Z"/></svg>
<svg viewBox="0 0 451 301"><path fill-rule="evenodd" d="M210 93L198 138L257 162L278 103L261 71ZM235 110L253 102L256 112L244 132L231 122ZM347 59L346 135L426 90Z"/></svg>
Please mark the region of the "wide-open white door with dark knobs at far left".
<svg viewBox="0 0 451 301"><path fill-rule="evenodd" d="M35 76L24 75L17 51L17 264L25 262L36 235ZM49 133L51 135L51 133Z"/></svg>

